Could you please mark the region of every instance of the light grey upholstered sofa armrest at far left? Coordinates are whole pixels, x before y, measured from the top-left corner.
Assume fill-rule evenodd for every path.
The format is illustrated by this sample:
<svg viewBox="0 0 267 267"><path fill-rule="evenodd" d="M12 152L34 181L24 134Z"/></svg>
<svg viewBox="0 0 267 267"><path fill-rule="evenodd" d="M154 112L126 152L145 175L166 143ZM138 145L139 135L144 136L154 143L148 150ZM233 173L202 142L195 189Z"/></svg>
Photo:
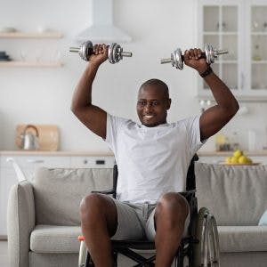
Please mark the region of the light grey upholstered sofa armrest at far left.
<svg viewBox="0 0 267 267"><path fill-rule="evenodd" d="M28 266L29 236L36 224L33 187L23 181L12 186L7 204L10 267Z"/></svg>

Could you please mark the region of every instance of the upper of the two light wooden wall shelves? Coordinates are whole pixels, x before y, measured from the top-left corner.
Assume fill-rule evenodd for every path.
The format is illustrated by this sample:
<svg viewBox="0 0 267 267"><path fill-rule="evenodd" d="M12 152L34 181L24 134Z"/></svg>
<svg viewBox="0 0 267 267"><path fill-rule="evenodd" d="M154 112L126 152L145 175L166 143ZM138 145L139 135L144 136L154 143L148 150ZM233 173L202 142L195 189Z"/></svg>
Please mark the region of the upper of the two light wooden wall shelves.
<svg viewBox="0 0 267 267"><path fill-rule="evenodd" d="M27 33L27 32L0 32L0 38L55 38L63 35L59 32Z"/></svg>

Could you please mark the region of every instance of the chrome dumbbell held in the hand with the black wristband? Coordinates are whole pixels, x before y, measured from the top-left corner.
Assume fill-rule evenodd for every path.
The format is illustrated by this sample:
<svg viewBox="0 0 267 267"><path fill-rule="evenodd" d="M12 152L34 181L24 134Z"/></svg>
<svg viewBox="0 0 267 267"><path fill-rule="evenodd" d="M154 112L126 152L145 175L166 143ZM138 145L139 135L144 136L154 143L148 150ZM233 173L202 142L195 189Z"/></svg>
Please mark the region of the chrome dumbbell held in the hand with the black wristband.
<svg viewBox="0 0 267 267"><path fill-rule="evenodd" d="M205 44L204 50L205 52L201 53L199 59L206 59L207 64L214 63L218 55L228 53L228 50L214 49L214 47L211 44ZM176 50L174 50L174 53L171 53L170 59L163 59L160 61L160 63L161 64L172 63L173 67L175 67L176 69L182 69L183 61L184 61L184 55L182 54L181 49L177 48Z"/></svg>

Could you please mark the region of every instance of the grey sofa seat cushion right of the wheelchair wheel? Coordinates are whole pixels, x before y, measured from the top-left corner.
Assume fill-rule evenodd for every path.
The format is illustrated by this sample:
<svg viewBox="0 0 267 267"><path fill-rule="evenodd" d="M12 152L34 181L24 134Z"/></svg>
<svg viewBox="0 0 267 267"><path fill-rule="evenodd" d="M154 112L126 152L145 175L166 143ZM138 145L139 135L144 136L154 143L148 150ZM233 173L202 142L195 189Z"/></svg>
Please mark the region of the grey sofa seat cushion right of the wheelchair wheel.
<svg viewBox="0 0 267 267"><path fill-rule="evenodd" d="M267 227L218 226L221 252L267 251Z"/></svg>

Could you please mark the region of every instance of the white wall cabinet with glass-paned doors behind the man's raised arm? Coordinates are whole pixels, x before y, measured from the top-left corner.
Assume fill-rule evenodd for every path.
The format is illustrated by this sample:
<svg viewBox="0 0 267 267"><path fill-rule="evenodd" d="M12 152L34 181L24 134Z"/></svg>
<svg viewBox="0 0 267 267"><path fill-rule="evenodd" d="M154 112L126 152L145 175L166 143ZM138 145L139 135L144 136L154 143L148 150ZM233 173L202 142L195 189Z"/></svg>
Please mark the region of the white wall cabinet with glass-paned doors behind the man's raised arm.
<svg viewBox="0 0 267 267"><path fill-rule="evenodd" d="M244 101L267 101L267 3L260 0L199 0L198 43L228 49L214 72ZM204 80L198 98L213 99Z"/></svg>

